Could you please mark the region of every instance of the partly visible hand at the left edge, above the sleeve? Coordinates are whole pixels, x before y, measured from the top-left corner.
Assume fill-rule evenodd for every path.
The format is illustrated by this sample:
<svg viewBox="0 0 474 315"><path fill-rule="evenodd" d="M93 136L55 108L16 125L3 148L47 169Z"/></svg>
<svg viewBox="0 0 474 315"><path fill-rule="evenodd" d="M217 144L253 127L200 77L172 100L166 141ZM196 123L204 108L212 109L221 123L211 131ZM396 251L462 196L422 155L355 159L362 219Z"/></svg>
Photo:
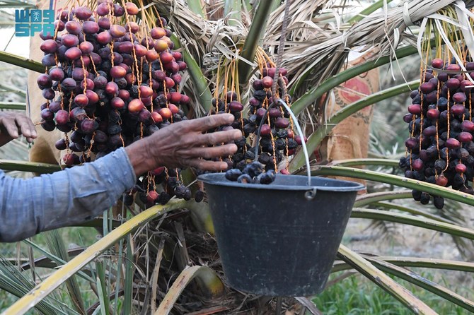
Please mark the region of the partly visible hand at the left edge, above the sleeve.
<svg viewBox="0 0 474 315"><path fill-rule="evenodd" d="M33 121L18 112L0 112L0 146L18 138L19 134L31 143L37 137Z"/></svg>

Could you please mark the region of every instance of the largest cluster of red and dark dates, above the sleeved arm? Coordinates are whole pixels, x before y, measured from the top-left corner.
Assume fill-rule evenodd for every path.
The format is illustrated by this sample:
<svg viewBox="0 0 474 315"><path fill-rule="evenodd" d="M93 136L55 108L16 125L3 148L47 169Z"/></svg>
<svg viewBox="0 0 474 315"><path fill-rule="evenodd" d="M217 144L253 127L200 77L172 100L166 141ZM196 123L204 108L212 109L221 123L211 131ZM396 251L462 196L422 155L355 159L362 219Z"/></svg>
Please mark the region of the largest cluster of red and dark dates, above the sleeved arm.
<svg viewBox="0 0 474 315"><path fill-rule="evenodd" d="M62 11L56 33L40 35L47 67L37 78L46 99L41 125L64 132L56 148L67 150L65 165L87 162L91 153L98 158L187 119L181 107L190 98L178 92L186 64L173 51L167 21L158 18L160 26L148 30L134 22L137 13L133 3L99 1L95 12L85 6ZM179 178L180 170L158 168L135 190L148 205L167 203L173 195L191 198ZM160 182L164 191L158 194ZM202 191L198 195L202 200Z"/></svg>

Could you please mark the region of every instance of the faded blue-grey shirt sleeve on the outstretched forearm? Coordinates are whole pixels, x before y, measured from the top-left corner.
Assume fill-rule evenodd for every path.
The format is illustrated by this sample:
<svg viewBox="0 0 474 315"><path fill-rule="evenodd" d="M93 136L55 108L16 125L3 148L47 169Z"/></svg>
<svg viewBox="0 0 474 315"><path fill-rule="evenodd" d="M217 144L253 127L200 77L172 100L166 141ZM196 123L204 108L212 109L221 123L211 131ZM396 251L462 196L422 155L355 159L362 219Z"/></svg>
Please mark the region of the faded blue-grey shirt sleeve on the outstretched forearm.
<svg viewBox="0 0 474 315"><path fill-rule="evenodd" d="M0 242L91 220L136 181L124 148L53 174L31 179L0 170Z"/></svg>

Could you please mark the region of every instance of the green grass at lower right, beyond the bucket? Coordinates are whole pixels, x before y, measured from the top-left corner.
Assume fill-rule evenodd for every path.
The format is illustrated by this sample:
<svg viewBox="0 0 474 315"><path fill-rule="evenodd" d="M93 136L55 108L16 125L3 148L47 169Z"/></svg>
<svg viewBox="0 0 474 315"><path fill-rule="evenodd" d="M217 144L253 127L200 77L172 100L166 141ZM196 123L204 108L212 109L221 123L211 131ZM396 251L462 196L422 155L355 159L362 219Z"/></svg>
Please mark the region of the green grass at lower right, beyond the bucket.
<svg viewBox="0 0 474 315"><path fill-rule="evenodd" d="M337 273L330 277L334 279ZM422 273L422 276L433 280L434 275L431 273ZM449 287L451 290L455 290L455 287L461 287L461 285L449 285L449 283L442 277L437 279L440 285ZM468 311L458 307L455 304L447 302L445 299L441 299L431 292L422 290L419 287L411 285L403 280L395 279L401 285L407 287L408 290L413 292L418 298L422 299L429 307L432 307L438 314L443 315L461 315L468 314ZM461 292L458 294L463 295L468 299L473 299L474 290L472 288L459 289ZM313 298L313 302L316 304L318 309L325 315L409 315L411 311L406 309L403 304L398 302L396 299L388 295L381 288L366 280L362 275L352 275L349 278L345 278L339 283L328 287L323 293Z"/></svg>

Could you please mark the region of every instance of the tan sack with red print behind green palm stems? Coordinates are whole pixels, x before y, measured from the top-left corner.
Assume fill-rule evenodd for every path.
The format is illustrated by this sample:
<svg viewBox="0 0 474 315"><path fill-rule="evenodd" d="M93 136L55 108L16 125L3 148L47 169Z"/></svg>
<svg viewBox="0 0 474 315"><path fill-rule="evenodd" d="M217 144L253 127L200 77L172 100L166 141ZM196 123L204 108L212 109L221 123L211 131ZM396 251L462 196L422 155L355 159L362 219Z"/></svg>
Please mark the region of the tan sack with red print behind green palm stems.
<svg viewBox="0 0 474 315"><path fill-rule="evenodd" d="M370 59L375 54L374 51L366 53L353 61L350 61L348 67L356 66ZM342 71L345 69L342 69ZM371 95L379 90L379 71L373 69L360 76L338 85L333 90L333 97L326 106L326 115L334 114L343 107L360 100L366 95ZM353 114L347 119L337 124L330 135L327 136L320 146L316 149L316 160L345 160L352 158L367 157L369 148L369 129L372 119L372 107L365 107L359 112ZM353 179L347 177L337 177L340 179L352 180L365 184L362 179Z"/></svg>

